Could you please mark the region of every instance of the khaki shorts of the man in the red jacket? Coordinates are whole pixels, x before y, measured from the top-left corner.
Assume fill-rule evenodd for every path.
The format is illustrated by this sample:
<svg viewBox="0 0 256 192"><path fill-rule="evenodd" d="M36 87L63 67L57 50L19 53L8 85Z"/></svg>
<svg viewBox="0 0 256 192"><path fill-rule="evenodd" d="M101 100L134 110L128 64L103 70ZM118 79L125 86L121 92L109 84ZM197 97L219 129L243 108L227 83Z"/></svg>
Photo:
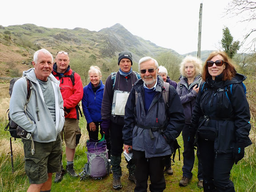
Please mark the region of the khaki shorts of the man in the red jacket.
<svg viewBox="0 0 256 192"><path fill-rule="evenodd" d="M64 132L64 140L65 144L68 148L76 148L79 143L79 139L81 136L81 129L79 128L79 120L77 119L65 119L65 124L63 127ZM62 140L63 140L63 132L61 132Z"/></svg>

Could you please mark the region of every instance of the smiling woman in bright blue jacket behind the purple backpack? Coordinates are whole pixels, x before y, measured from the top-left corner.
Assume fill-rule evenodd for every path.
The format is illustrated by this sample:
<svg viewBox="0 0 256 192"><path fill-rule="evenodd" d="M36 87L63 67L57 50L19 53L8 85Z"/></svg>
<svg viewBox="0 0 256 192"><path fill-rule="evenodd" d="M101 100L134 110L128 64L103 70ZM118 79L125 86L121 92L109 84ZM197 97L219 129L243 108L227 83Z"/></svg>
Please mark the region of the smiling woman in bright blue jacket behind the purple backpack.
<svg viewBox="0 0 256 192"><path fill-rule="evenodd" d="M91 66L88 71L90 83L84 87L84 96L82 99L82 108L85 119L87 121L87 130L89 139L98 140L99 129L101 138L103 131L101 128L101 103L104 92L104 84L101 80L100 68ZM110 159L110 140L109 136L105 136L108 148L108 158Z"/></svg>

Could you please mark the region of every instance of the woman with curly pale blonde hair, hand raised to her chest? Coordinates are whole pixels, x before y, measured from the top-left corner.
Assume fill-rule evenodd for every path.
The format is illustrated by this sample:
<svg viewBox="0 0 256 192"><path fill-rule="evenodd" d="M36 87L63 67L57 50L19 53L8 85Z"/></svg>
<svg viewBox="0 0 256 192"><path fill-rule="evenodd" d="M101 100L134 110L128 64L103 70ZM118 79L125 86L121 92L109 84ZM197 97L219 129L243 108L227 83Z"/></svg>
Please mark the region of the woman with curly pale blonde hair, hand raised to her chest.
<svg viewBox="0 0 256 192"><path fill-rule="evenodd" d="M195 162L194 146L188 143L189 125L191 124L192 112L196 103L196 96L199 92L199 85L202 81L201 78L202 61L193 56L186 56L180 64L180 74L182 78L178 83L176 91L178 92L181 100L181 104L184 108L185 125L182 129L183 138L183 167L182 167L182 179L180 180L180 186L184 187L188 185L188 182L192 178L192 169ZM196 152L198 158L198 172L197 186L203 187L203 171L200 160L199 150Z"/></svg>

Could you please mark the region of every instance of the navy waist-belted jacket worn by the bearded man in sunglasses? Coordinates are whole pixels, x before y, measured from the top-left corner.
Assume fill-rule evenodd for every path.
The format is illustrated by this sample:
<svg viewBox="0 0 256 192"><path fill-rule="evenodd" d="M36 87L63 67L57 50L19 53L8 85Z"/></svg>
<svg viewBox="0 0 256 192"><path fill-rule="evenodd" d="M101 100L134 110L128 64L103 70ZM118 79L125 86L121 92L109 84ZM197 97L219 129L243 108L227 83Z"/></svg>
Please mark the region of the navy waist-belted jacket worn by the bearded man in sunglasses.
<svg viewBox="0 0 256 192"><path fill-rule="evenodd" d="M125 106L124 144L144 151L146 158L170 155L169 144L180 135L185 120L180 97L172 86L169 86L169 107L166 107L162 96L164 81L159 77L156 95L147 114L144 109L143 80L136 81ZM138 93L137 99L135 92Z"/></svg>

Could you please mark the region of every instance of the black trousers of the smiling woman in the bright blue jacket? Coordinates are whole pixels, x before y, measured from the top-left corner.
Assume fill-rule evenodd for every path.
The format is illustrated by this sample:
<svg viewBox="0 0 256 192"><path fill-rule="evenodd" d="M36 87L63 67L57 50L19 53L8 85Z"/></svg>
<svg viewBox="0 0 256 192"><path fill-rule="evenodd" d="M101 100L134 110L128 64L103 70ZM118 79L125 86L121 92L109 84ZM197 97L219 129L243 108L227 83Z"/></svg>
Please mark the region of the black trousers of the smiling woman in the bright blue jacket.
<svg viewBox="0 0 256 192"><path fill-rule="evenodd" d="M89 124L86 125L87 131L88 131L88 134L89 134L89 139L98 140L99 139L99 128L100 128L101 138L103 137L103 134L104 134L103 131L102 131L102 128L100 126L102 121L96 121L96 122L93 122L93 123L95 123L95 125L96 125L96 131L94 131L94 132L90 131ZM108 159L110 159L111 142L110 142L109 134L105 135L105 140L107 142Z"/></svg>

